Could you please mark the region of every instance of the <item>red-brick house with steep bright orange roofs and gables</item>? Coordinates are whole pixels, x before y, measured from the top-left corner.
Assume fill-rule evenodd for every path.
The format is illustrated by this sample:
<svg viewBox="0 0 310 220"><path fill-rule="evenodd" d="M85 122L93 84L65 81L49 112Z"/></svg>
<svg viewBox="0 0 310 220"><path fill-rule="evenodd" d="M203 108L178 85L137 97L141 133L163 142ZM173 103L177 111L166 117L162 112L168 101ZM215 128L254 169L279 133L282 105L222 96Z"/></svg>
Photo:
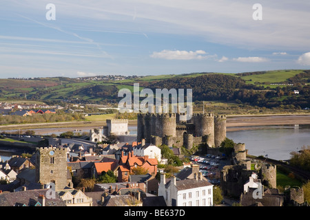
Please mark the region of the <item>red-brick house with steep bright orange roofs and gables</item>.
<svg viewBox="0 0 310 220"><path fill-rule="evenodd" d="M138 157L131 151L125 156L122 152L118 164L118 181L127 181L132 169L137 167L145 168L150 175L156 175L157 165L157 159L151 159L148 155Z"/></svg>

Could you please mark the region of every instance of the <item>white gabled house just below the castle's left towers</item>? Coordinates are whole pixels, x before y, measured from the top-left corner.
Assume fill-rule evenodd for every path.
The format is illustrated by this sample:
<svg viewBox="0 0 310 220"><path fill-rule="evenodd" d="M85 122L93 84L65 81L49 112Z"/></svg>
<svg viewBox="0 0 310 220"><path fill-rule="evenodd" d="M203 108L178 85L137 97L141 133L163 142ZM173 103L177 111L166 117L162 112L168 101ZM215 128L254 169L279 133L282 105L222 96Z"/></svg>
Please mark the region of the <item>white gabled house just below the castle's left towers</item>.
<svg viewBox="0 0 310 220"><path fill-rule="evenodd" d="M138 157L149 156L149 158L156 158L158 162L161 162L161 148L154 144L145 144L145 140L142 140L141 144L134 146L134 155Z"/></svg>

